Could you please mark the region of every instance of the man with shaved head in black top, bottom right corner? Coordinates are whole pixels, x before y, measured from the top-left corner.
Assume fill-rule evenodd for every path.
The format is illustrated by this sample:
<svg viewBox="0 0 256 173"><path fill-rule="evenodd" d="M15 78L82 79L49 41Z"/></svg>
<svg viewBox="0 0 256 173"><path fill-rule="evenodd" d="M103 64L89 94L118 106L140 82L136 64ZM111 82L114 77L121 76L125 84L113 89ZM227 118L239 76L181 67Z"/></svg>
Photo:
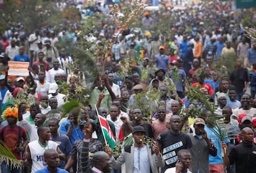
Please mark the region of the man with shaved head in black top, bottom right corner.
<svg viewBox="0 0 256 173"><path fill-rule="evenodd" d="M256 145L252 144L254 131L250 127L244 127L241 134L243 142L233 147L229 155L224 152L224 163L226 166L236 164L236 173L254 173L256 170ZM222 147L227 151L225 143Z"/></svg>

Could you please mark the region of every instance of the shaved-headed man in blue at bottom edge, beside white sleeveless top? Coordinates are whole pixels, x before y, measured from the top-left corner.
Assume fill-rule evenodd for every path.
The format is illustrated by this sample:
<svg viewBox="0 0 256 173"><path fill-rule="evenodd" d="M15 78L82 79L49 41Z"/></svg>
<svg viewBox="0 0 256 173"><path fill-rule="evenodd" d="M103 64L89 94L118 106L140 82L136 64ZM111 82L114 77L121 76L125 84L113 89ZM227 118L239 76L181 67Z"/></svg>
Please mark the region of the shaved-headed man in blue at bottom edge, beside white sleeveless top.
<svg viewBox="0 0 256 173"><path fill-rule="evenodd" d="M59 153L54 149L46 150L43 154L47 167L36 171L35 173L67 173L65 169L59 168Z"/></svg>

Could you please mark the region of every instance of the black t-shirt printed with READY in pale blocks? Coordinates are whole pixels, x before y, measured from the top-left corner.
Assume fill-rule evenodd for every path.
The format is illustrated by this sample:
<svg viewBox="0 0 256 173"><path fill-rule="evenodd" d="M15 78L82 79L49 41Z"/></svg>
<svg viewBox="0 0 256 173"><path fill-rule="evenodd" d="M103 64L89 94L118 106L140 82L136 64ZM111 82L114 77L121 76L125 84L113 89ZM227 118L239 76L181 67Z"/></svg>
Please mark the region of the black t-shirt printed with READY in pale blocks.
<svg viewBox="0 0 256 173"><path fill-rule="evenodd" d="M170 167L175 167L177 162L177 152L181 149L192 147L192 142L189 135L181 132L179 135L173 135L170 131L161 133L157 139L162 145L162 154L165 161L161 172L166 171Z"/></svg>

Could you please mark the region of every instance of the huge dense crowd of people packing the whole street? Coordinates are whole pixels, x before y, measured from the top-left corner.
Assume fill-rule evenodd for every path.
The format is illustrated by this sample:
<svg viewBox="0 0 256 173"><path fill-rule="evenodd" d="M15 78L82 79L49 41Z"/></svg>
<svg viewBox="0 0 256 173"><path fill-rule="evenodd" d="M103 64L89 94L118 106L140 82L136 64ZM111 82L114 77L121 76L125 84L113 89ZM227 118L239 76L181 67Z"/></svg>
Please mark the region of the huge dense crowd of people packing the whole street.
<svg viewBox="0 0 256 173"><path fill-rule="evenodd" d="M242 18L231 14L231 4L145 10L137 28L119 33L109 15L114 3L120 10L126 4L95 4L90 15L101 12L106 23L99 19L87 35L80 34L79 23L34 33L17 25L1 34L0 140L22 163L14 167L3 160L1 172L254 173L256 40L247 36ZM57 6L64 10L69 2ZM77 6L85 15L83 3ZM168 31L155 32L167 17L171 37ZM57 48L67 39L77 47L83 39L90 49L113 42L105 60L97 58L100 50L92 54L96 79L88 81L87 69L73 68L80 62L67 47ZM234 68L216 65L222 59L233 61ZM8 75L9 62L28 62L29 75ZM68 104L77 88L88 86L88 105ZM192 88L202 91L214 113L188 95ZM198 108L197 117L184 118L184 112ZM119 153L99 116L106 119L114 145L132 139Z"/></svg>

